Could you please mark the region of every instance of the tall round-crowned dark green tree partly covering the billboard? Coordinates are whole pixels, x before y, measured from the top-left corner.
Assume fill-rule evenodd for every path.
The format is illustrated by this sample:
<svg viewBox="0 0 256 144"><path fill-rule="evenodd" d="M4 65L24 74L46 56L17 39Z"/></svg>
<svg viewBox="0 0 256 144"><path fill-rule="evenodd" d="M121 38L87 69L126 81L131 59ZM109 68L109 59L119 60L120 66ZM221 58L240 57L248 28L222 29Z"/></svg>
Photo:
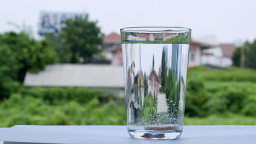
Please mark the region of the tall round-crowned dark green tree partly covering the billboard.
<svg viewBox="0 0 256 144"><path fill-rule="evenodd" d="M89 21L88 15L67 20L67 27L62 29L62 38L71 51L71 63L79 63L81 58L90 59L101 51L98 46L102 44L103 34L96 24Z"/></svg>

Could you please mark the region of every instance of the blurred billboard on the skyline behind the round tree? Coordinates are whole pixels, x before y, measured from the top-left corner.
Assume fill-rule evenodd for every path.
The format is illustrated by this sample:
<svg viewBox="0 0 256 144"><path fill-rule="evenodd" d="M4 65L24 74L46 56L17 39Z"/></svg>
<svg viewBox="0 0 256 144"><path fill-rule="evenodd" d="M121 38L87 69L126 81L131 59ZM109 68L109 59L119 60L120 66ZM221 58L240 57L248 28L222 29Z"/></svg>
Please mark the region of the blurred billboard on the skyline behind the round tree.
<svg viewBox="0 0 256 144"><path fill-rule="evenodd" d="M41 11L39 17L39 35L44 36L46 33L58 35L61 29L66 27L66 20L75 16L85 16L85 13L61 13Z"/></svg>

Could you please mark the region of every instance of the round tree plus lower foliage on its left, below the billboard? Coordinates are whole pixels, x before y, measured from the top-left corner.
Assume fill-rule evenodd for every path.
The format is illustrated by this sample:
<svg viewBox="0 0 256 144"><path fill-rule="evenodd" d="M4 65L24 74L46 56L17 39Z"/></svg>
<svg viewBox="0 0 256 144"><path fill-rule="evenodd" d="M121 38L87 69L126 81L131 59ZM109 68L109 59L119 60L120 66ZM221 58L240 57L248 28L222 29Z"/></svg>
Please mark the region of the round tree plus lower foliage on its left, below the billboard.
<svg viewBox="0 0 256 144"><path fill-rule="evenodd" d="M97 22L89 21L88 15L68 19L61 35L47 34L45 40L57 53L60 63L90 62L94 55L105 59L98 46L103 34Z"/></svg>

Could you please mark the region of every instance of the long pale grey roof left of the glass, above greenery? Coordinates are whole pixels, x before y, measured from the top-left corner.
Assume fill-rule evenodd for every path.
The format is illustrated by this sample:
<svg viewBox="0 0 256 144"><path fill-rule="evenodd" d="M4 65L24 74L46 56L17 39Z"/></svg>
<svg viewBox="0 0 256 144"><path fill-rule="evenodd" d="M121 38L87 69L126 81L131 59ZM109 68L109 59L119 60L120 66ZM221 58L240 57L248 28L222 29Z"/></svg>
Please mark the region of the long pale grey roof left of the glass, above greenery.
<svg viewBox="0 0 256 144"><path fill-rule="evenodd" d="M123 67L117 65L54 64L26 73L25 86L123 88Z"/></svg>

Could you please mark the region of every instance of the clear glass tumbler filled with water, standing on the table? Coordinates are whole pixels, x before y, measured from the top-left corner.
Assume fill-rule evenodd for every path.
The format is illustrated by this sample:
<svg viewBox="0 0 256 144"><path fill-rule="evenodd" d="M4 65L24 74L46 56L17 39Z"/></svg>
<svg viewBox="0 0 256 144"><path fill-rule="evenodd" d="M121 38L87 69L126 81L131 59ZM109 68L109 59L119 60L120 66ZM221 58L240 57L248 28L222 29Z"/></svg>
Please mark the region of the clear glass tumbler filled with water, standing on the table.
<svg viewBox="0 0 256 144"><path fill-rule="evenodd" d="M191 29L120 29L127 129L136 139L178 139L183 130Z"/></svg>

